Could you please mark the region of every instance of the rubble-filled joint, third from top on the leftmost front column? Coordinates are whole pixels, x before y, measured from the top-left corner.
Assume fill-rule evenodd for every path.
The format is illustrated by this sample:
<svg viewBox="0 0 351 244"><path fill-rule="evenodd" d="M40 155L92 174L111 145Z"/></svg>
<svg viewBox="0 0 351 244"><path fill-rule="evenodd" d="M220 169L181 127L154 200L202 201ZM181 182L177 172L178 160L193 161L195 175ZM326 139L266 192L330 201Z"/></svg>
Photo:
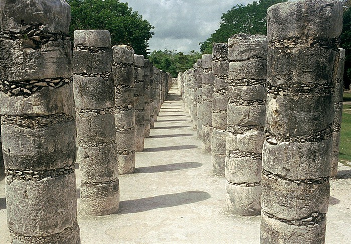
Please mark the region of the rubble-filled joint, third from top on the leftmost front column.
<svg viewBox="0 0 351 244"><path fill-rule="evenodd" d="M66 113L55 113L45 116L11 116L8 114L1 115L1 124L9 125L16 128L40 129L52 125L58 125L74 121L74 117Z"/></svg>

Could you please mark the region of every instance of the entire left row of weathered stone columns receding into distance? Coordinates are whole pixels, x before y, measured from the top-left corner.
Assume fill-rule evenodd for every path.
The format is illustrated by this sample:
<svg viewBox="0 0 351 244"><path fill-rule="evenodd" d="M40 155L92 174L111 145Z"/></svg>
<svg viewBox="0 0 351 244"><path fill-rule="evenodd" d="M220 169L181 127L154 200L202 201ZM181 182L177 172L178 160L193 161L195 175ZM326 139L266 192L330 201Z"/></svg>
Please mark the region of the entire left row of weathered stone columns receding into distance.
<svg viewBox="0 0 351 244"><path fill-rule="evenodd" d="M29 7L7 2L0 13L0 158L11 242L80 243L76 159L81 213L116 213L118 173L134 171L172 79L132 48L111 48L106 30L75 31L72 60L69 5Z"/></svg>

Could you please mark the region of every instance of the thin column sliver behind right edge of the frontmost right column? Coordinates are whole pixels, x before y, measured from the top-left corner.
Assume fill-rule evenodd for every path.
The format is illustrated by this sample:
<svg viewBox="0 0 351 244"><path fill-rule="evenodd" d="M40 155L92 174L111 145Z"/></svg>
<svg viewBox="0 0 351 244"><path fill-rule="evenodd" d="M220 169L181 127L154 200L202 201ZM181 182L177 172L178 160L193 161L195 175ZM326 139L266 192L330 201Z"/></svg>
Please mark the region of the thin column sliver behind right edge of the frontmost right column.
<svg viewBox="0 0 351 244"><path fill-rule="evenodd" d="M337 175L337 164L339 161L339 143L342 116L342 95L343 95L343 71L345 65L345 50L339 48L336 60L336 72L334 74L334 121L333 121L333 146L331 154L330 177Z"/></svg>

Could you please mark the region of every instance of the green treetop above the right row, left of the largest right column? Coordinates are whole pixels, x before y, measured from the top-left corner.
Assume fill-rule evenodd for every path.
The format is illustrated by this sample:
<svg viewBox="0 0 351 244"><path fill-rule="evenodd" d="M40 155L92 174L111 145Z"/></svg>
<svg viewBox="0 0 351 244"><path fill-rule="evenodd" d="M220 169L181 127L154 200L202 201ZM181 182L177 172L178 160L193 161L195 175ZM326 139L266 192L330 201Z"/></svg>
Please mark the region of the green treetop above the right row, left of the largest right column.
<svg viewBox="0 0 351 244"><path fill-rule="evenodd" d="M212 53L213 43L226 43L234 34L267 35L267 9L287 0L259 0L246 6L236 5L221 17L220 28L205 42L200 43L203 53Z"/></svg>

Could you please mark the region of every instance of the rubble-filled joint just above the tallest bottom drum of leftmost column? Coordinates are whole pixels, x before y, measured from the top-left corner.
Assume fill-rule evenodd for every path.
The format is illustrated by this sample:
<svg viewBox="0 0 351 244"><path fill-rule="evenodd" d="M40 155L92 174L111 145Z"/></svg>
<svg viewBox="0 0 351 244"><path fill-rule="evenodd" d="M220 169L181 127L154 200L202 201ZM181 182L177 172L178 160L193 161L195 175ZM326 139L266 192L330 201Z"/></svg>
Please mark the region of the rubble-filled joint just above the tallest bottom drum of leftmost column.
<svg viewBox="0 0 351 244"><path fill-rule="evenodd" d="M11 185L14 181L41 181L45 178L55 178L74 173L74 165L52 170L17 170L5 169L6 183Z"/></svg>

